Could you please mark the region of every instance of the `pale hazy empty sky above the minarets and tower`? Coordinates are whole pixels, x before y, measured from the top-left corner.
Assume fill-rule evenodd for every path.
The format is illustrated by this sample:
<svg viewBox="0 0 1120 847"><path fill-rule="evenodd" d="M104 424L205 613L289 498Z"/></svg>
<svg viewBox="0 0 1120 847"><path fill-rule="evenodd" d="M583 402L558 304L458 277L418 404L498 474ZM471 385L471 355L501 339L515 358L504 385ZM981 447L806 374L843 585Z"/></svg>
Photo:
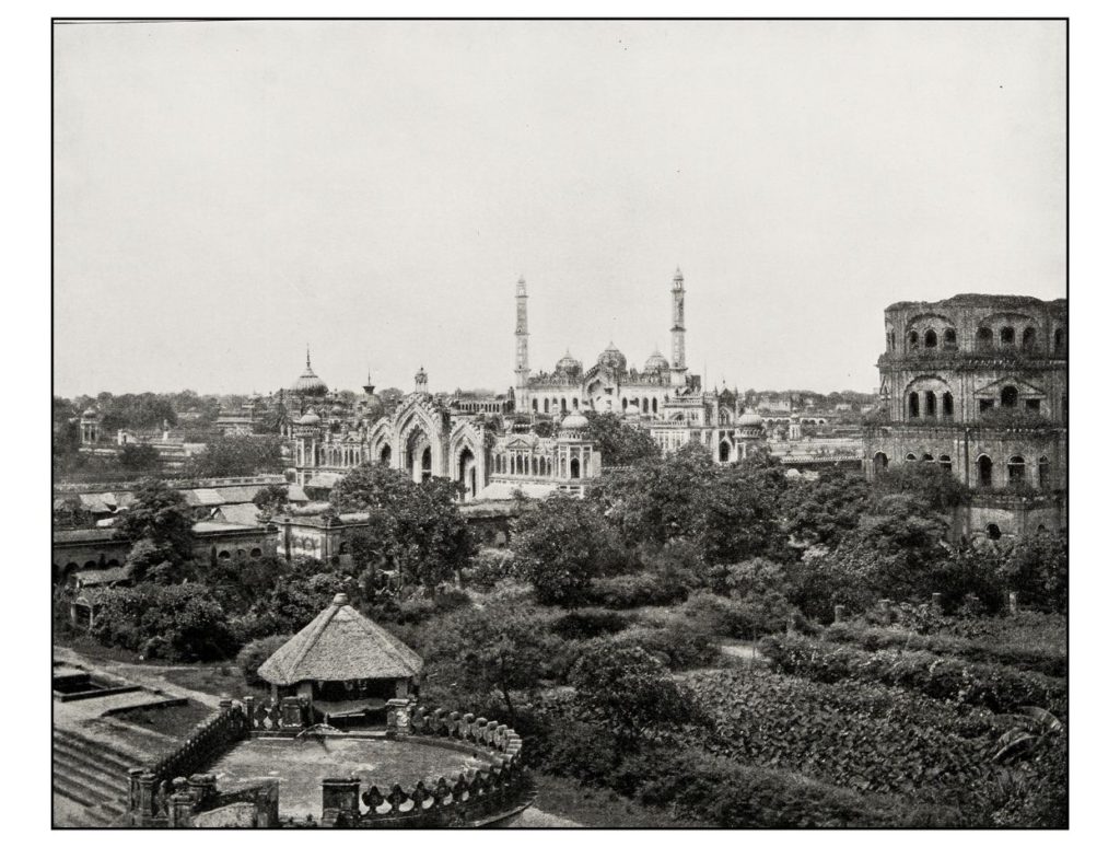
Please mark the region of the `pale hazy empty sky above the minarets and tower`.
<svg viewBox="0 0 1120 847"><path fill-rule="evenodd" d="M874 390L883 309L1065 296L1061 22L55 28L55 392L513 382L614 341Z"/></svg>

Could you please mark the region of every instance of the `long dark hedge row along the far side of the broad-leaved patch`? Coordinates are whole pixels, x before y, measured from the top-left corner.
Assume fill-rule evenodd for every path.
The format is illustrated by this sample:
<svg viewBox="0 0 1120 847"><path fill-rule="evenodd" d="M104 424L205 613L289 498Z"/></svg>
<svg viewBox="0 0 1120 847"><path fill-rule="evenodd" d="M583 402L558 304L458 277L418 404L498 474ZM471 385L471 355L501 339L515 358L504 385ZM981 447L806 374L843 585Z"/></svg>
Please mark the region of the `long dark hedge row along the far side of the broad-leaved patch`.
<svg viewBox="0 0 1120 847"><path fill-rule="evenodd" d="M847 644L801 637L767 637L760 649L783 673L821 682L862 679L992 711L1038 706L1060 717L1066 713L1064 680L1033 671L946 659L916 650L867 652Z"/></svg>

